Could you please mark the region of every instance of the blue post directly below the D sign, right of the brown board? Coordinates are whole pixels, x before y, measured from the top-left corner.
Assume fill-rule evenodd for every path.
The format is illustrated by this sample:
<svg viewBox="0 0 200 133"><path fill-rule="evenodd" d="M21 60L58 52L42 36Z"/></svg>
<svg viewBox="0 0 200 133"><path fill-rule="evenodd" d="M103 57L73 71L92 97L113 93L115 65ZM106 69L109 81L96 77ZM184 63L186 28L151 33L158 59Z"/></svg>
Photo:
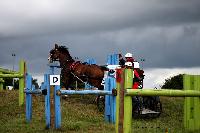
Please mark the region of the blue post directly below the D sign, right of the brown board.
<svg viewBox="0 0 200 133"><path fill-rule="evenodd" d="M61 107L60 107L60 96L57 95L57 91L60 90L60 85L55 85L54 88L54 107L55 107L55 128L61 127Z"/></svg>

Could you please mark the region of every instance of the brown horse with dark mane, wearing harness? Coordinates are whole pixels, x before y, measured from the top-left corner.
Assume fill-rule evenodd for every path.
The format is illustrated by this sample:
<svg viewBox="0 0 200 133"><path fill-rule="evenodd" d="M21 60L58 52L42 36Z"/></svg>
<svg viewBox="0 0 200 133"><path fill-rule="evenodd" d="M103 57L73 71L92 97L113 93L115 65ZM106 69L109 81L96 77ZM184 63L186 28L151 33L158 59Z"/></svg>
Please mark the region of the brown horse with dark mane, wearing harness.
<svg viewBox="0 0 200 133"><path fill-rule="evenodd" d="M99 90L104 89L101 83L104 78L104 71L106 71L107 68L75 61L65 46L58 46L57 44L55 44L55 48L50 51L49 60L50 62L60 62L61 83L64 88L68 89L69 85L76 78L97 87Z"/></svg>

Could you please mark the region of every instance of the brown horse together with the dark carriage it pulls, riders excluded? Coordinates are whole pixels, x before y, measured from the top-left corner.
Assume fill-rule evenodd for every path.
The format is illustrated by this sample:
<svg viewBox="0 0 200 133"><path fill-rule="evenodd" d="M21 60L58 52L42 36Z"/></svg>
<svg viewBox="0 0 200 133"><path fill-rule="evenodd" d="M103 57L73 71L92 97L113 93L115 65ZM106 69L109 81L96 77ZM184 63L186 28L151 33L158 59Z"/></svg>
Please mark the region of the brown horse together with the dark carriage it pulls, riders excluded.
<svg viewBox="0 0 200 133"><path fill-rule="evenodd" d="M98 88L99 90L104 89L102 81L104 79L105 71L107 73L114 73L114 69L109 69L109 67L98 66L95 64L88 65L81 63L80 61L75 61L69 54L68 49L65 46L58 46L55 44L55 48L50 51L49 61L59 61L61 67L61 83L62 88L69 88L70 84L74 80L81 82L87 82L90 85ZM139 70L143 72L143 70ZM138 88L143 88L144 75L141 73L141 79L134 82L138 82ZM97 107L99 111L104 111L105 97L97 97ZM133 115L134 116L149 116L158 117L162 111L162 104L158 96L151 97L133 97Z"/></svg>

